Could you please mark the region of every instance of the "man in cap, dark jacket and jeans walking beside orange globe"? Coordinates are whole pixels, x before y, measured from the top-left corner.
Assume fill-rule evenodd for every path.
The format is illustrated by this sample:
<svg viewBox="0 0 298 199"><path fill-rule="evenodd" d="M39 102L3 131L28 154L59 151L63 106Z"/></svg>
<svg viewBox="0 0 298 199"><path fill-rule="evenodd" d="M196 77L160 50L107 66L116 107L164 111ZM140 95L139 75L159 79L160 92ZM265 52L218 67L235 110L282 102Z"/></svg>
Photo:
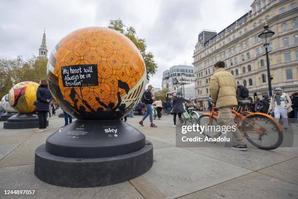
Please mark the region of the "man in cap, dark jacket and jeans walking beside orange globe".
<svg viewBox="0 0 298 199"><path fill-rule="evenodd" d="M146 114L143 117L143 119L141 121L139 121L139 124L141 126L144 126L143 121L149 116L150 119L150 127L157 127L154 123L153 123L153 116L152 116L152 103L153 100L155 100L155 97L153 96L153 94L151 93L152 90L152 85L148 85L147 90L143 93L142 96L142 102L145 103L145 107L146 107Z"/></svg>

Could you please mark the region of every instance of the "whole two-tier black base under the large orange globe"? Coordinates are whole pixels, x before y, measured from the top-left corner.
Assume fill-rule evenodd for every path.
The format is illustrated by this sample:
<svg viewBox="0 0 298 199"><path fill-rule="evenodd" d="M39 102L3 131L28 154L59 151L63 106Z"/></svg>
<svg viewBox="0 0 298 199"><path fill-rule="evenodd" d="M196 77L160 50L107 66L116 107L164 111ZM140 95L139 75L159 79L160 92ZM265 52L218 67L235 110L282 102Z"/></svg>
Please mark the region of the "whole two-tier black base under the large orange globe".
<svg viewBox="0 0 298 199"><path fill-rule="evenodd" d="M65 187L124 182L147 172L152 163L152 143L119 119L76 120L35 151L37 178Z"/></svg>

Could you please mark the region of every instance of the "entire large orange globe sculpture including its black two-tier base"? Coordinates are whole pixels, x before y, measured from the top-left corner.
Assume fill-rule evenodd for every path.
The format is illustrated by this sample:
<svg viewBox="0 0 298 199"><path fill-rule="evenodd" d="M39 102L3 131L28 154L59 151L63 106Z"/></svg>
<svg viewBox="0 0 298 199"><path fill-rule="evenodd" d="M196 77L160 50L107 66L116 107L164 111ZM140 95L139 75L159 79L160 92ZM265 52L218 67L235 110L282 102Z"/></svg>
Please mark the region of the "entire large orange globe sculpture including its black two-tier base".
<svg viewBox="0 0 298 199"><path fill-rule="evenodd" d="M37 148L38 179L94 187L150 169L152 144L120 120L140 100L147 77L142 55L127 37L104 27L78 29L56 45L47 77L60 107L77 120Z"/></svg>

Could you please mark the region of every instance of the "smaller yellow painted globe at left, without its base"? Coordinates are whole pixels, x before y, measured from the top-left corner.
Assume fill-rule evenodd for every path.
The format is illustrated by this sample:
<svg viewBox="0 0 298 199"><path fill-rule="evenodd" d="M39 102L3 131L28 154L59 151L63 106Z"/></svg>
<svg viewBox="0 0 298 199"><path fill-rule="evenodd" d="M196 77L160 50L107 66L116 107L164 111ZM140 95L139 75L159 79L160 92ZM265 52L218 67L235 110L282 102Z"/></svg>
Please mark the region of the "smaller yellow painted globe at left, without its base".
<svg viewBox="0 0 298 199"><path fill-rule="evenodd" d="M19 113L32 113L35 110L36 92L39 84L23 81L14 85L9 93L9 105Z"/></svg>

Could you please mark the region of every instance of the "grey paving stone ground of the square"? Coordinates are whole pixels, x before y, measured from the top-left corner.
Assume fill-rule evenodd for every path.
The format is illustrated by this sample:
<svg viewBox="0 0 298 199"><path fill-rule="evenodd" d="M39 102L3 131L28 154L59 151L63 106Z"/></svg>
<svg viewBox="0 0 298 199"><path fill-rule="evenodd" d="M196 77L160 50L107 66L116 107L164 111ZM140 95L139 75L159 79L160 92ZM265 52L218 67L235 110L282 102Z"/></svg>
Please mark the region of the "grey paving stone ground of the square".
<svg viewBox="0 0 298 199"><path fill-rule="evenodd" d="M247 152L219 147L175 146L172 116L154 122L158 128L128 123L153 143L153 166L144 175L95 188L66 188L34 175L35 149L63 125L54 116L45 132L3 129L0 122L0 199L297 199L298 148ZM298 132L295 132L298 134ZM297 135L296 135L297 136ZM36 190L34 195L4 195L4 190Z"/></svg>

